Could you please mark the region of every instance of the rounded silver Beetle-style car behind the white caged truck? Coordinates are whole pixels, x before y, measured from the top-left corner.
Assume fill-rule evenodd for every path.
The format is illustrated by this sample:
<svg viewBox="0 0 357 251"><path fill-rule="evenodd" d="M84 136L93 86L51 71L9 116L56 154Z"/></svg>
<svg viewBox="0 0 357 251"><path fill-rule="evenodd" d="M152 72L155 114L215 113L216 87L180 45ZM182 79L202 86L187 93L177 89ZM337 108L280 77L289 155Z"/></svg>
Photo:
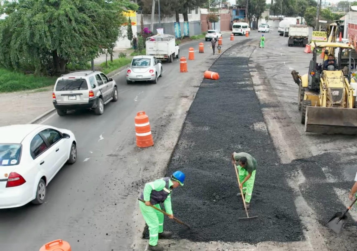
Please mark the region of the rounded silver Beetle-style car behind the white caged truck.
<svg viewBox="0 0 357 251"><path fill-rule="evenodd" d="M162 64L155 56L134 56L129 69L126 70L126 83L150 81L157 83L157 77L162 77Z"/></svg>

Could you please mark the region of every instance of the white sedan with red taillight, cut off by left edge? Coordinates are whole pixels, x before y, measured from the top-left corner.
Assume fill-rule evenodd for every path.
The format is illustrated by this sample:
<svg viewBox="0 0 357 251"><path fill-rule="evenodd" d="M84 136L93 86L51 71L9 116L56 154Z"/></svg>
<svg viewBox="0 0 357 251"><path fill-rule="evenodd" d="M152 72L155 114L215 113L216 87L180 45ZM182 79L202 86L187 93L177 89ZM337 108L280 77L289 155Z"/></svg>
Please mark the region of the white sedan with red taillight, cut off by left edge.
<svg viewBox="0 0 357 251"><path fill-rule="evenodd" d="M42 204L46 186L77 158L77 141L66 129L46 125L0 127L0 209Z"/></svg>

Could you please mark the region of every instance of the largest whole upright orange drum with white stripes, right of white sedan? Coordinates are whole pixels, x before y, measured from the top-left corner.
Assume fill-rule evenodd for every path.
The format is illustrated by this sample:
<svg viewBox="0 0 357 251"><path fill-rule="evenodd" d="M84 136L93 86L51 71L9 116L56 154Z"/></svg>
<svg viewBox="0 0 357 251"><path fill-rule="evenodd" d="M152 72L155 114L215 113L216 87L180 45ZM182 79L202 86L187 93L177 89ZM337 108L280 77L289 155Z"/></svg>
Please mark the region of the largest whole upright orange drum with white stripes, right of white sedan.
<svg viewBox="0 0 357 251"><path fill-rule="evenodd" d="M149 147L154 145L152 140L149 116L145 111L139 111L135 117L135 134L137 147Z"/></svg>

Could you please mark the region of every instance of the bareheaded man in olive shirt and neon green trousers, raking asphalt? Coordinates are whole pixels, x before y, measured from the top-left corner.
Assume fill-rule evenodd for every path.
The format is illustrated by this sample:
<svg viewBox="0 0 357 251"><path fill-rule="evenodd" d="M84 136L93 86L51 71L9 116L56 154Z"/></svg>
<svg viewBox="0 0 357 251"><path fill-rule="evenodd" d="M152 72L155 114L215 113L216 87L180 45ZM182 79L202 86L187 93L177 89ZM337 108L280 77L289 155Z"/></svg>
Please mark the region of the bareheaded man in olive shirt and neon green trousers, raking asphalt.
<svg viewBox="0 0 357 251"><path fill-rule="evenodd" d="M232 162L233 164L238 161L237 169L239 174L239 182L243 190L247 209L250 206L250 200L252 199L253 186L255 181L255 172L257 169L257 161L252 155L246 152L233 152ZM240 193L237 196L241 196Z"/></svg>

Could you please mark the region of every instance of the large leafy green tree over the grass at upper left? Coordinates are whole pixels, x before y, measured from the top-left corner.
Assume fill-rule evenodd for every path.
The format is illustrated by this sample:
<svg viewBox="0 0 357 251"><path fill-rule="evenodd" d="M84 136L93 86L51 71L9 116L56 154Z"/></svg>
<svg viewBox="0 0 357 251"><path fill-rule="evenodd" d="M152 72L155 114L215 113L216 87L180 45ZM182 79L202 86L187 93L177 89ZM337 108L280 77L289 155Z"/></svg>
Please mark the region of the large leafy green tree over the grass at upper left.
<svg viewBox="0 0 357 251"><path fill-rule="evenodd" d="M85 64L101 50L112 49L126 21L128 0L4 1L0 23L0 65L33 67L36 73L66 70L70 62ZM2 14L1 13L1 14Z"/></svg>

